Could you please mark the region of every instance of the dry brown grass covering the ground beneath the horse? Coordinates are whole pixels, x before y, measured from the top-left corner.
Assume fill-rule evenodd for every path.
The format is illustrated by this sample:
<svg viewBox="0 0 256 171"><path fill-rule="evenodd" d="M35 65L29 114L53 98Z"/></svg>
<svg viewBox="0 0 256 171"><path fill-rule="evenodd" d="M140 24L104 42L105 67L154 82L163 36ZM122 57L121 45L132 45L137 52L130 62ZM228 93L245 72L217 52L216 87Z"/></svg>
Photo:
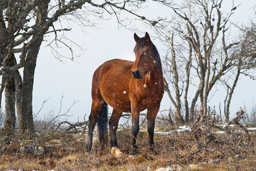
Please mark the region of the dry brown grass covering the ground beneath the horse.
<svg viewBox="0 0 256 171"><path fill-rule="evenodd" d="M81 137L73 138L71 134L22 143L13 140L10 145L0 144L0 148L11 148L0 153L0 170L155 170L170 165L180 165L182 170L256 170L254 134L251 134L250 143L246 143L245 137L233 140L226 134L214 135L218 141L209 141L202 135L195 137L193 132L186 131L177 135L155 135L158 154L153 155L147 149L147 134L139 132L137 145L140 153L130 156L130 133L123 130L118 132L119 148L123 152L120 158L111 155L110 148L100 151L97 141L94 141L92 152L86 153L86 137L84 141L77 141ZM60 139L62 143L50 144L52 139ZM45 152L39 156L18 152L21 146L28 144L42 145ZM237 157L238 154L245 155L245 158ZM218 158L221 159L219 164L209 163Z"/></svg>

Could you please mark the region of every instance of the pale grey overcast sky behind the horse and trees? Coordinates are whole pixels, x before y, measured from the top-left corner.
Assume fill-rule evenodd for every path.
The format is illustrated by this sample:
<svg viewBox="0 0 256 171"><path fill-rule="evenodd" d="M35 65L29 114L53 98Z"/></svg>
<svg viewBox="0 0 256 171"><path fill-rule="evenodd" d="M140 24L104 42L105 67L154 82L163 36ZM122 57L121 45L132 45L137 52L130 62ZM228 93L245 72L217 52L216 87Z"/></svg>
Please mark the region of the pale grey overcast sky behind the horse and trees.
<svg viewBox="0 0 256 171"><path fill-rule="evenodd" d="M229 0L225 0L228 2ZM231 18L235 22L248 22L249 17L253 14L253 6L256 5L255 0L247 1L235 1L235 4L241 5ZM230 1L231 3L231 1ZM229 4L225 5L229 9ZM162 9L154 9L155 6L150 6L150 10L141 10L141 14L157 15L158 13L169 13L168 11L162 11ZM154 11L154 13L152 12ZM132 23L131 26L134 24ZM136 22L135 25L141 32L153 33L149 28L143 26L143 23ZM126 30L125 28L119 28L116 19L113 17L109 21L102 21L99 25L100 29L93 30L86 28L87 34L83 34L82 28L74 25L72 30L66 33L66 36L72 39L74 42L83 45L86 48L85 51L80 51L75 48L77 54L82 54L80 58L75 59L75 62L71 62L68 59L65 60L65 64L55 59L49 47L46 47L51 38L47 38L48 42L44 42L39 51L37 68L35 70L34 79L34 95L33 95L33 112L37 113L41 108L44 100L51 97L47 103L45 103L39 116L47 116L50 111L55 114L58 113L61 105L60 100L62 93L64 92L64 98L62 101L62 113L73 104L73 101L79 101L71 108L68 120L83 121L83 116L87 114L86 120L90 114L91 106L91 79L95 69L103 62L109 59L120 58L134 60L133 48L135 46L133 34L134 32ZM144 34L138 33L139 36ZM153 40L155 46L157 46L160 55L163 54L163 46L158 39ZM63 46L62 46L63 47ZM61 50L65 54L69 54L68 50ZM243 107L246 104L247 107L253 105L253 100L256 99L256 82L253 82L249 78L243 76L242 81L238 82L233 95L233 101L231 103L231 113L239 110L239 107ZM218 107L218 99L223 99L223 92L216 94L217 99L210 101L210 105L216 105ZM223 102L223 100L222 100ZM254 103L256 105L256 101ZM161 109L169 109L170 100L165 93L165 96L161 103ZM222 109L223 110L223 109ZM217 110L218 111L218 110ZM222 111L223 112L223 111ZM66 117L64 119L67 119Z"/></svg>

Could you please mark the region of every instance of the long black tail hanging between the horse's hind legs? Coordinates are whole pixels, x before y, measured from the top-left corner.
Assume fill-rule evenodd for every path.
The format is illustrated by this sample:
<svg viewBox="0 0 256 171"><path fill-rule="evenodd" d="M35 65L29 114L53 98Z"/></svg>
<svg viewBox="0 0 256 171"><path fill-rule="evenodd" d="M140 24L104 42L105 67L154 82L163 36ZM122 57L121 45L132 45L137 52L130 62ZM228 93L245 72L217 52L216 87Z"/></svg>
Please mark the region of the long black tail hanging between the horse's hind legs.
<svg viewBox="0 0 256 171"><path fill-rule="evenodd" d="M107 145L107 103L104 102L98 115L98 136L99 143L104 148Z"/></svg>

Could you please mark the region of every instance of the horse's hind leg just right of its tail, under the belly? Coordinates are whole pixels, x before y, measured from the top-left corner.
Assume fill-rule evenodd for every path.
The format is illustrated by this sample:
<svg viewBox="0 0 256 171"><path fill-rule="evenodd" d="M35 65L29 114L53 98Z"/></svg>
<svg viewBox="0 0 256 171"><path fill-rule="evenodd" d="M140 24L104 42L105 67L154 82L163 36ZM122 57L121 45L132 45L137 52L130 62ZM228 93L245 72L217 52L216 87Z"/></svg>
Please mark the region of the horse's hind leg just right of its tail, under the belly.
<svg viewBox="0 0 256 171"><path fill-rule="evenodd" d="M117 127L118 121L122 116L122 112L113 109L111 119L109 120L109 132L110 132L110 145L112 147L118 147L117 145Z"/></svg>

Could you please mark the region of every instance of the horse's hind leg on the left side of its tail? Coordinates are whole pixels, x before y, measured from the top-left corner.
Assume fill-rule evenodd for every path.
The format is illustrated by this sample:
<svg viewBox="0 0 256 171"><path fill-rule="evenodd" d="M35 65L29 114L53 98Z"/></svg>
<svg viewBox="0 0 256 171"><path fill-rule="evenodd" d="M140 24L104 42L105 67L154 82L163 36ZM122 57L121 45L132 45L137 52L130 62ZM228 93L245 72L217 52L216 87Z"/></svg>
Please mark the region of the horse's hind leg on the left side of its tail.
<svg viewBox="0 0 256 171"><path fill-rule="evenodd" d="M102 104L99 100L93 101L91 104L91 114L89 116L89 123L88 123L88 138L86 143L86 150L87 152L91 151L91 146L93 145L93 130L98 120L99 111L101 111Z"/></svg>

